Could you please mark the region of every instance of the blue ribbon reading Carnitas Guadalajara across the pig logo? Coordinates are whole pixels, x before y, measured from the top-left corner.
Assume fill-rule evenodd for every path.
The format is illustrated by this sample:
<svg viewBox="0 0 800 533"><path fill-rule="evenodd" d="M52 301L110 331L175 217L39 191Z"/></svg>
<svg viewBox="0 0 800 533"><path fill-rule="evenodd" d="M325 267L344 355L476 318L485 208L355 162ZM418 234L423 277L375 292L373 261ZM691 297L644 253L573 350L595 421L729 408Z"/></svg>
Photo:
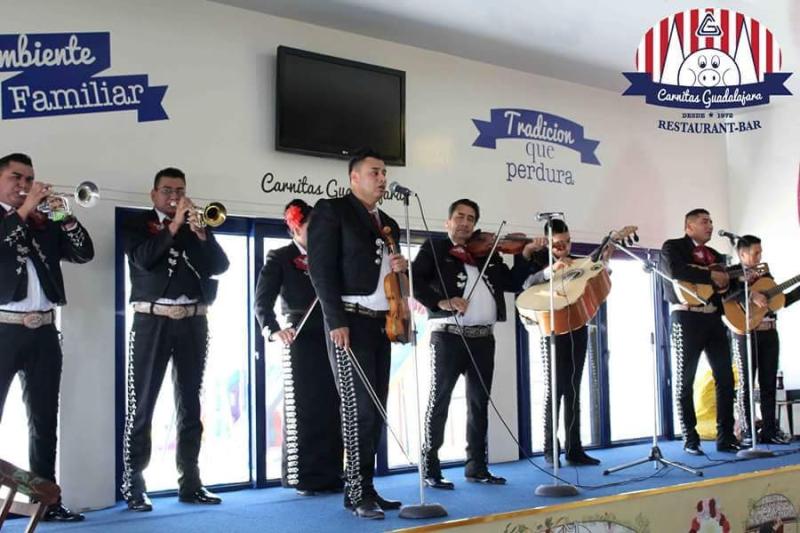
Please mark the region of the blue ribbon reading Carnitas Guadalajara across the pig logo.
<svg viewBox="0 0 800 533"><path fill-rule="evenodd" d="M648 104L683 109L729 109L769 103L769 97L789 96L783 84L791 72L764 74L764 81L733 87L687 87L655 83L647 72L623 72L631 86L623 96L644 96Z"/></svg>

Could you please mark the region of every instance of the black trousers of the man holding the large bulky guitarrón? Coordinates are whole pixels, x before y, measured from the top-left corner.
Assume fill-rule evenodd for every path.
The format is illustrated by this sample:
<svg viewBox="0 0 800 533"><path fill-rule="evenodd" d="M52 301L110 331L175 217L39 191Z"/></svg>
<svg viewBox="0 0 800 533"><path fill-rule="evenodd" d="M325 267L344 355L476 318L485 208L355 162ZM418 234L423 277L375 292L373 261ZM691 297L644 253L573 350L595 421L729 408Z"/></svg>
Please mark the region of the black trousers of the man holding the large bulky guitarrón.
<svg viewBox="0 0 800 533"><path fill-rule="evenodd" d="M581 379L586 364L588 328L556 335L556 417L564 402L564 451L567 455L583 451L581 444ZM541 338L544 372L544 452L553 454L553 400L550 390L550 337Z"/></svg>

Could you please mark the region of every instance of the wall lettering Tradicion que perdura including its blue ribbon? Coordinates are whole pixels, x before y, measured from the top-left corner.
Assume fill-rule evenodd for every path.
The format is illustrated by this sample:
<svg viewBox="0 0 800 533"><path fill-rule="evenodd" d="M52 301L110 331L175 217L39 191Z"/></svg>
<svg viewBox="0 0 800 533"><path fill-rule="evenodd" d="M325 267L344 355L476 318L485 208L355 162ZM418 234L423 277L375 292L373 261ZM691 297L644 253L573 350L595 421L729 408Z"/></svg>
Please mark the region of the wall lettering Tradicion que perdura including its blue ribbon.
<svg viewBox="0 0 800 533"><path fill-rule="evenodd" d="M506 181L575 185L575 173L565 168L558 156L561 148L574 150L580 162L600 165L595 150L600 141L584 135L583 126L558 115L533 109L492 109L490 119L472 119L478 137L472 146L494 150L500 139L523 141L523 153L505 162Z"/></svg>

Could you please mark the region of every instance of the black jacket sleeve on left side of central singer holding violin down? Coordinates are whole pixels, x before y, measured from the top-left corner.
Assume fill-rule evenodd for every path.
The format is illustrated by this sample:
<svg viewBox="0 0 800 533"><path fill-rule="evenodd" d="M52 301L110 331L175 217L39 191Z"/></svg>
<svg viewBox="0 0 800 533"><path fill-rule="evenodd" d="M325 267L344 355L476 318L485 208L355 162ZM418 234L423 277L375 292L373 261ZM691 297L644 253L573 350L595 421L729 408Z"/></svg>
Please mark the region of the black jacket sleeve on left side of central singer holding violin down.
<svg viewBox="0 0 800 533"><path fill-rule="evenodd" d="M330 329L347 326L340 278L342 222L327 200L314 206L308 224L308 273Z"/></svg>

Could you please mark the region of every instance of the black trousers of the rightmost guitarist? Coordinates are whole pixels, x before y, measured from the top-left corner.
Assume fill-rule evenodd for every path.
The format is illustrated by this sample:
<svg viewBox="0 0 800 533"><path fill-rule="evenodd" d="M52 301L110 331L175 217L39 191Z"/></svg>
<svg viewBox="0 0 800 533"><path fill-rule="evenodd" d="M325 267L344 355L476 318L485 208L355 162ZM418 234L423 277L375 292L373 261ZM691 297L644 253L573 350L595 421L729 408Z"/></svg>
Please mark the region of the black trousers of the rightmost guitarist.
<svg viewBox="0 0 800 533"><path fill-rule="evenodd" d="M763 437L773 437L778 431L775 420L775 381L778 375L780 339L777 330L753 331L751 350L753 369L747 371L747 337L733 335L733 358L739 370L739 386L736 391L736 412L743 435L750 434L750 390L748 379L758 372L758 387L761 394L761 420Z"/></svg>

